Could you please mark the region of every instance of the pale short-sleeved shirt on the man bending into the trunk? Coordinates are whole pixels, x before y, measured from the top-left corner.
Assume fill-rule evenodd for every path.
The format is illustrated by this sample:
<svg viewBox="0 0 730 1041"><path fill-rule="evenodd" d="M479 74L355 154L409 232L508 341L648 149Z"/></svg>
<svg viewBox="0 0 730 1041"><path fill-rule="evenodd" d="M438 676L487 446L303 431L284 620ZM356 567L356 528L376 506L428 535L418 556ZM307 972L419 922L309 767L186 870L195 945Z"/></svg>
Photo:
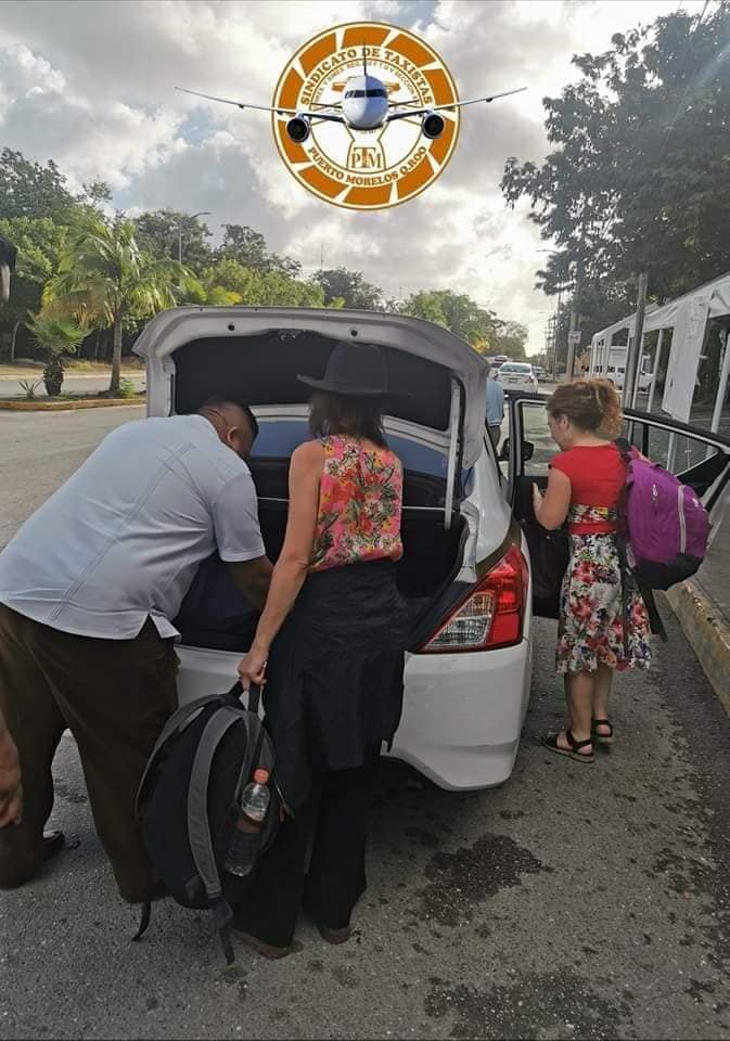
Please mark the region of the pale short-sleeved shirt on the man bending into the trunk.
<svg viewBox="0 0 730 1041"><path fill-rule="evenodd" d="M133 639L171 625L201 561L266 550L242 459L202 415L110 434L0 553L0 603L53 629Z"/></svg>

